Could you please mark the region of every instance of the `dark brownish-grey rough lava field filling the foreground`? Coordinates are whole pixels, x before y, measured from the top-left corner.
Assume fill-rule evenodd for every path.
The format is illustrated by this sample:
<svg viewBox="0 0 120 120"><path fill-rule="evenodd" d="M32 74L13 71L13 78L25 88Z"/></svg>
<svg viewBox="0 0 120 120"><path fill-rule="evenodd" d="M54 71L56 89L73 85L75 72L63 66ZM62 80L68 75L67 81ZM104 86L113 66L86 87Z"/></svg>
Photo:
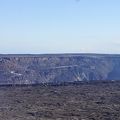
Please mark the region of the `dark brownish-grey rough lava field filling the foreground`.
<svg viewBox="0 0 120 120"><path fill-rule="evenodd" d="M0 120L120 120L120 82L1 86Z"/></svg>

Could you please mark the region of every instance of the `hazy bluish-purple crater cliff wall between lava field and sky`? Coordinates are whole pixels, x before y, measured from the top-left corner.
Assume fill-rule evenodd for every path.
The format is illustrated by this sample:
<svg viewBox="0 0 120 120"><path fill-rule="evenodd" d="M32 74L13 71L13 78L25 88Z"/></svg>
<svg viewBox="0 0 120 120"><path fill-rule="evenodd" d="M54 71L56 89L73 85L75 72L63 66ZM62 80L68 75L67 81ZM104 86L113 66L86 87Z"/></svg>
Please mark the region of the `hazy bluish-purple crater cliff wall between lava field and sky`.
<svg viewBox="0 0 120 120"><path fill-rule="evenodd" d="M0 84L120 80L120 55L1 55Z"/></svg>

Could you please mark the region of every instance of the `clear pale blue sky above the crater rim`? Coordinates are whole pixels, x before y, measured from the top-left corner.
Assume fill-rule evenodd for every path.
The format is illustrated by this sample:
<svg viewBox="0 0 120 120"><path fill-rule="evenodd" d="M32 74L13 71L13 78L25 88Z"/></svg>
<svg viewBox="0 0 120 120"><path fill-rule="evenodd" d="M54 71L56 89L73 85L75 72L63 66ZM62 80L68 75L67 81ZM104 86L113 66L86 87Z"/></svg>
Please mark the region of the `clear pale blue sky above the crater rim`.
<svg viewBox="0 0 120 120"><path fill-rule="evenodd" d="M0 54L120 54L120 0L0 0Z"/></svg>

